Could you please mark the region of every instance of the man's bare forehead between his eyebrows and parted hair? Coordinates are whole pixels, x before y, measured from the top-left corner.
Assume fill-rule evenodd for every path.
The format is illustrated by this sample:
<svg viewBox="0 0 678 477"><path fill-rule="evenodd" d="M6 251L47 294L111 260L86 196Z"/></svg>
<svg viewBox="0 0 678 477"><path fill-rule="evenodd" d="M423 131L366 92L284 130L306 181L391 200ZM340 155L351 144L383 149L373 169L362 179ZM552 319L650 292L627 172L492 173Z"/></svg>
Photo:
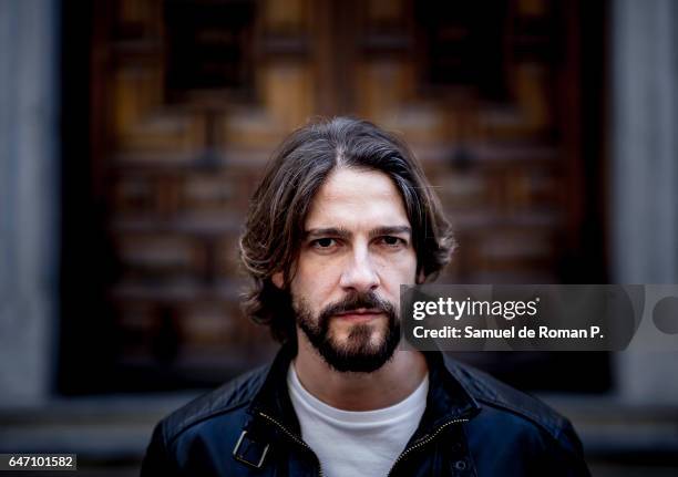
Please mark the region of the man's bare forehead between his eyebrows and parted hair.
<svg viewBox="0 0 678 477"><path fill-rule="evenodd" d="M305 228L409 226L402 197L384 173L339 167L311 201Z"/></svg>

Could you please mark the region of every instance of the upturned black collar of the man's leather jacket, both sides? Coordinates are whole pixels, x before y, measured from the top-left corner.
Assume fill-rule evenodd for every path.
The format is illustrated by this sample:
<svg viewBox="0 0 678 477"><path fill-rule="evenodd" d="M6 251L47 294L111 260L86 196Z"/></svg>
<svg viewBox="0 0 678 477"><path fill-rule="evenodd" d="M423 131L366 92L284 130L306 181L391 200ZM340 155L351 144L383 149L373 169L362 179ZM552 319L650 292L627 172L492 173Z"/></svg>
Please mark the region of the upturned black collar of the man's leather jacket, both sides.
<svg viewBox="0 0 678 477"><path fill-rule="evenodd" d="M255 421L261 417L261 414L273 417L299 436L301 434L299 421L287 388L287 372L296 354L296 343L282 345L268 370L264 384L253 398L248 413ZM423 354L429 365L429 394L417 434L428 434L450 421L474 417L480 412L480 405L466 388L466 384L455 377L458 373L454 361L445 360L439 351L423 352Z"/></svg>

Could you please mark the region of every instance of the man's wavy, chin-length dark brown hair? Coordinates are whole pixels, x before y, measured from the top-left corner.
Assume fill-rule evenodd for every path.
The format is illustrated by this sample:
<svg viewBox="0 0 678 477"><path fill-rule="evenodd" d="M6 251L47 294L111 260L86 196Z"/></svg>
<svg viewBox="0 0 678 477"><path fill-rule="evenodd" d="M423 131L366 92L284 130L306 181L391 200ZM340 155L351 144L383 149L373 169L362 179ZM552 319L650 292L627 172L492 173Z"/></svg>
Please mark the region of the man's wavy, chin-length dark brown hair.
<svg viewBox="0 0 678 477"><path fill-rule="evenodd" d="M274 338L295 336L289 283L316 193L336 167L378 170L400 191L417 252L417 274L434 279L454 247L438 197L408 146L372 123L350 117L316 121L280 144L249 206L240 259L253 278L243 309L270 326ZM282 272L285 289L271 277Z"/></svg>

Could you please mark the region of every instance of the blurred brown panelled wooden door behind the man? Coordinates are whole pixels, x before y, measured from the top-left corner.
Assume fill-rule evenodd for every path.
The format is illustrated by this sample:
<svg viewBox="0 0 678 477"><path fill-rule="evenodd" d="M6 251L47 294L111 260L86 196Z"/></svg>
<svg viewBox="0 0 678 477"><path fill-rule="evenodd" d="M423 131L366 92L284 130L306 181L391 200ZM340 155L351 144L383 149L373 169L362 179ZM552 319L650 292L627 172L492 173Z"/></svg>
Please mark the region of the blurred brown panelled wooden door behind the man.
<svg viewBox="0 0 678 477"><path fill-rule="evenodd" d="M62 387L82 390L93 367L106 376L90 390L212 384L273 353L238 309L237 237L270 152L316 114L356 114L411 144L460 242L441 282L603 280L585 204L600 164L582 129L602 128L581 106L592 53L579 2L563 3L91 3L94 222L65 222ZM69 210L85 207L65 194ZM82 257L85 228L99 232ZM524 370L545 362L521 356Z"/></svg>

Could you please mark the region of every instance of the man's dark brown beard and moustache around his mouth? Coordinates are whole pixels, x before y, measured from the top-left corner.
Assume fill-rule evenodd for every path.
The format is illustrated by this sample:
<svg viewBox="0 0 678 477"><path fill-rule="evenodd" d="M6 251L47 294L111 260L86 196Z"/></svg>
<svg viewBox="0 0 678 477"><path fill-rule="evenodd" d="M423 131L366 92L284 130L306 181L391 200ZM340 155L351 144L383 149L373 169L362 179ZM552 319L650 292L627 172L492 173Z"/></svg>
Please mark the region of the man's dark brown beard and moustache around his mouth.
<svg viewBox="0 0 678 477"><path fill-rule="evenodd" d="M347 373L371 373L383 366L400 342L400 321L392 303L380 299L372 291L351 293L332 303L314 317L302 299L292 300L297 324L318 351L320 356L336 371ZM339 343L330 331L333 315L359 308L379 310L387 317L383 336L374 342L378 329L372 323L353 324L345 343Z"/></svg>

